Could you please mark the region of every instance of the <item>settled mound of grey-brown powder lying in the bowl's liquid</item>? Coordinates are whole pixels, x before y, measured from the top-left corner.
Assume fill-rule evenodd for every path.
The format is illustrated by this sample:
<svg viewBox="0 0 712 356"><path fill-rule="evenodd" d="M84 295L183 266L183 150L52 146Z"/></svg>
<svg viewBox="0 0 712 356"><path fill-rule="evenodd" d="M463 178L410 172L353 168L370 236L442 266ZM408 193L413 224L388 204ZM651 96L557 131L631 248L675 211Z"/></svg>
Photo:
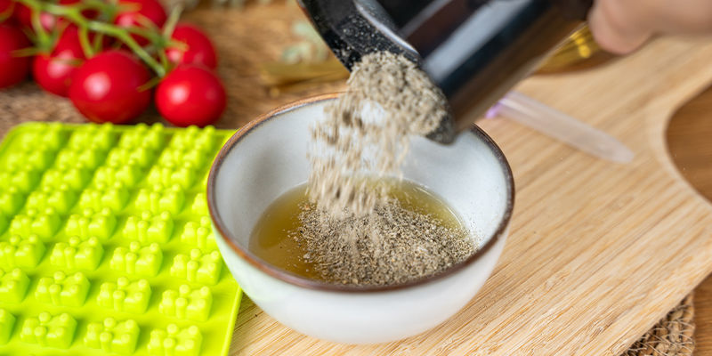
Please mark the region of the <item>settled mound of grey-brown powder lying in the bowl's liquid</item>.
<svg viewBox="0 0 712 356"><path fill-rule="evenodd" d="M437 274L474 252L464 229L448 228L430 214L397 200L360 217L332 218L303 206L295 239L309 251L320 277L339 284L392 285Z"/></svg>

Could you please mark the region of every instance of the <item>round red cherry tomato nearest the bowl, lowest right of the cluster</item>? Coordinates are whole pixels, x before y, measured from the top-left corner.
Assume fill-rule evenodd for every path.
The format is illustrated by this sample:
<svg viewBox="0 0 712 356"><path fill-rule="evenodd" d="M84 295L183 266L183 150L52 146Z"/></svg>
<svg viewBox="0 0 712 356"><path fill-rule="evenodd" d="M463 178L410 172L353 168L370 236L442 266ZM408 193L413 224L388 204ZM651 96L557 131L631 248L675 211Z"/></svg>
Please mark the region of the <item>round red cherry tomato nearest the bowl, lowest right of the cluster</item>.
<svg viewBox="0 0 712 356"><path fill-rule="evenodd" d="M209 69L178 67L158 85L156 107L171 124L205 126L223 114L225 89Z"/></svg>

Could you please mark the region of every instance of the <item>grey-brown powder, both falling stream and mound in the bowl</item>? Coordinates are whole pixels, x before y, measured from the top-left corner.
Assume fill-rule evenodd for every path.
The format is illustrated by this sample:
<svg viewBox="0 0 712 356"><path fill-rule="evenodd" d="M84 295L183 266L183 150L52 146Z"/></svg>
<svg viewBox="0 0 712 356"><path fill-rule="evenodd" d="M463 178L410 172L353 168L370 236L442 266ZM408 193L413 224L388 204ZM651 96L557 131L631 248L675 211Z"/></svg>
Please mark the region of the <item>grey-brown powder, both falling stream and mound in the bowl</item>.
<svg viewBox="0 0 712 356"><path fill-rule="evenodd" d="M472 255L475 244L465 229L403 208L389 198L392 184L380 180L400 177L410 136L440 125L447 114L440 89L415 63L392 53L364 56L348 85L312 127L312 204L303 206L302 227L292 231L309 251L304 259L334 283L391 285ZM364 117L369 106L382 109L384 119Z"/></svg>

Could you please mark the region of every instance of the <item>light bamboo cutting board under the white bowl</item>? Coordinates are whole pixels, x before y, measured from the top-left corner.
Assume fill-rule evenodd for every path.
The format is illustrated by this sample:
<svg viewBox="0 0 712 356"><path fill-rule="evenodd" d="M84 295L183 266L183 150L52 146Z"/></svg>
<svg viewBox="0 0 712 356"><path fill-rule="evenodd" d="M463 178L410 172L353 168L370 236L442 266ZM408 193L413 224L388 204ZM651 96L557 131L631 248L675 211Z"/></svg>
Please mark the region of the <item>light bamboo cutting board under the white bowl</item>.
<svg viewBox="0 0 712 356"><path fill-rule="evenodd" d="M710 60L709 40L664 39L603 69L521 85L617 136L636 153L629 165L506 119L482 121L514 171L511 234L480 293L440 327L391 344L332 344L279 325L247 301L231 354L625 351L712 271L712 207L684 182L664 141L673 110L712 82Z"/></svg>

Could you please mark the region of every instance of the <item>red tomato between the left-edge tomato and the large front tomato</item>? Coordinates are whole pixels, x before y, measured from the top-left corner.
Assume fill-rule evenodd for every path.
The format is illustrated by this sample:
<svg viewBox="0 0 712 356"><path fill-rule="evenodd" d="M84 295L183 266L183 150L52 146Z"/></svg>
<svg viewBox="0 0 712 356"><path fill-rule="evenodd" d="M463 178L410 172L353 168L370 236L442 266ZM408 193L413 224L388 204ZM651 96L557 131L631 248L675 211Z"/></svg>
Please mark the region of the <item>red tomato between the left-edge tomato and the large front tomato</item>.
<svg viewBox="0 0 712 356"><path fill-rule="evenodd" d="M69 27L50 54L40 54L32 64L32 76L39 86L60 96L69 95L72 76L85 60L85 53L79 43L77 28Z"/></svg>

